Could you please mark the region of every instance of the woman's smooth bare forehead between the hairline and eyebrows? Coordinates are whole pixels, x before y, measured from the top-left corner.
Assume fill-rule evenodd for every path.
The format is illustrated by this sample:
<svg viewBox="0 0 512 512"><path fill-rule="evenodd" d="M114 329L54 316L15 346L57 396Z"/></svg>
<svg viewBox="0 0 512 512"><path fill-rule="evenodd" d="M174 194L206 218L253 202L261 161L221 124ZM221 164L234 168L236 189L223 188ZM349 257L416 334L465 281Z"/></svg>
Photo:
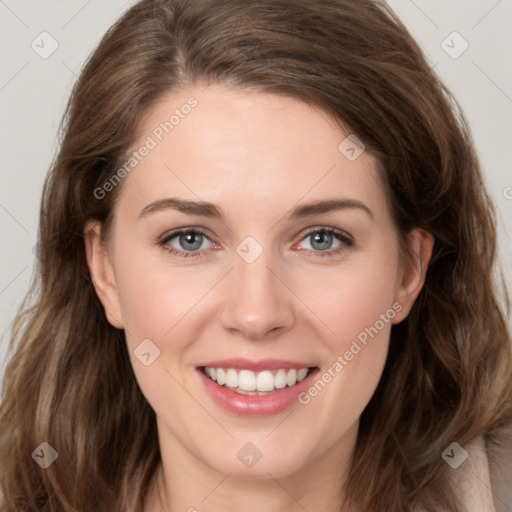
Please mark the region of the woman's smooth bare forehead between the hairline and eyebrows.
<svg viewBox="0 0 512 512"><path fill-rule="evenodd" d="M339 196L385 209L377 162L367 151L358 156L362 148L348 135L295 98L187 87L160 98L141 120L122 196L135 208L179 196L256 213Z"/></svg>

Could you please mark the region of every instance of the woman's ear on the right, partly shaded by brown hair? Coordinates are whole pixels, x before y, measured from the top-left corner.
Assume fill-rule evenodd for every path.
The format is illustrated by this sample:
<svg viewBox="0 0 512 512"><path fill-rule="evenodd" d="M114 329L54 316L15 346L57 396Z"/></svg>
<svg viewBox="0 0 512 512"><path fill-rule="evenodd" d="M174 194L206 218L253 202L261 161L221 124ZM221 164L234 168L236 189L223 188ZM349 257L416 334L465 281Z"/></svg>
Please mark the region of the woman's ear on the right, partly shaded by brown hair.
<svg viewBox="0 0 512 512"><path fill-rule="evenodd" d="M402 309L393 319L394 324L404 320L418 297L427 275L427 268L432 257L434 237L422 229L413 229L406 237L410 253L399 274L399 283L395 293L395 301Z"/></svg>

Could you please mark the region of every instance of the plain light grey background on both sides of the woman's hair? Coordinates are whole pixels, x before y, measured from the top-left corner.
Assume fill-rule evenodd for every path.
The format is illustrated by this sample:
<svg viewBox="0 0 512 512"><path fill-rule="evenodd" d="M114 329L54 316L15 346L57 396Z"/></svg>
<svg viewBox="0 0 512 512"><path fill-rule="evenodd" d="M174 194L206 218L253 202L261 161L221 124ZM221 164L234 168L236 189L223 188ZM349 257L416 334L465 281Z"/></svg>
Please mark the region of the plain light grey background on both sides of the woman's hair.
<svg viewBox="0 0 512 512"><path fill-rule="evenodd" d="M57 148L58 124L71 86L100 37L133 3L0 0L0 374L9 324L32 273L41 187ZM500 219L500 259L510 288L512 0L389 3L471 124ZM465 41L469 46L459 55Z"/></svg>

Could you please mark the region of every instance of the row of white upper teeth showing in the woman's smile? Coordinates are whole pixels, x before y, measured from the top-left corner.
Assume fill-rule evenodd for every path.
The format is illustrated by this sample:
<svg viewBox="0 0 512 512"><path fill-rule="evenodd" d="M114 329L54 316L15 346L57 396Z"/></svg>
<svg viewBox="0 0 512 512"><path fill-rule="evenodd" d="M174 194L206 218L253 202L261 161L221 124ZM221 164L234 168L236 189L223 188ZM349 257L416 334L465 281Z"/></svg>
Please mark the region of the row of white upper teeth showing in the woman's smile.
<svg viewBox="0 0 512 512"><path fill-rule="evenodd" d="M251 370L236 370L234 368L205 367L206 375L219 385L238 388L243 391L273 391L288 386L294 386L308 374L308 368L300 370L264 370L253 372Z"/></svg>

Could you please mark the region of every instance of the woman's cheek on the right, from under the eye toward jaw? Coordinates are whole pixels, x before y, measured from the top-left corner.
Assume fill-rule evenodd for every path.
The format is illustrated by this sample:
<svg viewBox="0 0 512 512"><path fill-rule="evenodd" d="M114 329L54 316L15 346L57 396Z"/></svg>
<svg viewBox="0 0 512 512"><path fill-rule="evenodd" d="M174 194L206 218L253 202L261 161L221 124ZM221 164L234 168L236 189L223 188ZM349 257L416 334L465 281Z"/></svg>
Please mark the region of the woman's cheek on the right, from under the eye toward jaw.
<svg viewBox="0 0 512 512"><path fill-rule="evenodd" d="M357 262L356 262L357 261ZM332 425L332 441L357 420L373 395L386 361L395 302L398 252L360 255L354 264L302 279L301 297L323 324L319 328L329 356L300 402L310 414Z"/></svg>

